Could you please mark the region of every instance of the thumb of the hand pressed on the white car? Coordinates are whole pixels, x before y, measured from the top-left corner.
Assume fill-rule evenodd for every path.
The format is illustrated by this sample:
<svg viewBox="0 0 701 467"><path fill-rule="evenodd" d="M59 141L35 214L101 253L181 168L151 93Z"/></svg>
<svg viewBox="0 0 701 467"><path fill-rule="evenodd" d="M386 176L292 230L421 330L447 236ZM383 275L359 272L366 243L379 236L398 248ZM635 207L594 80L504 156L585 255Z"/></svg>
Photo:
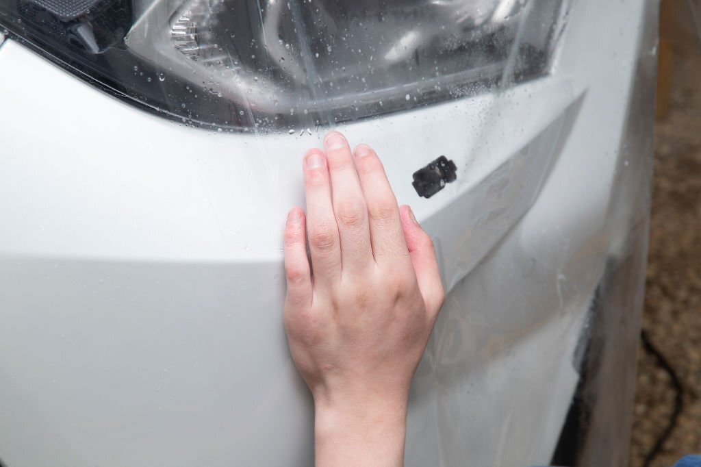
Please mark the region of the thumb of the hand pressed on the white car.
<svg viewBox="0 0 701 467"><path fill-rule="evenodd" d="M400 218L423 301L429 313L438 313L443 304L444 292L433 241L421 229L409 206L404 205L400 208Z"/></svg>

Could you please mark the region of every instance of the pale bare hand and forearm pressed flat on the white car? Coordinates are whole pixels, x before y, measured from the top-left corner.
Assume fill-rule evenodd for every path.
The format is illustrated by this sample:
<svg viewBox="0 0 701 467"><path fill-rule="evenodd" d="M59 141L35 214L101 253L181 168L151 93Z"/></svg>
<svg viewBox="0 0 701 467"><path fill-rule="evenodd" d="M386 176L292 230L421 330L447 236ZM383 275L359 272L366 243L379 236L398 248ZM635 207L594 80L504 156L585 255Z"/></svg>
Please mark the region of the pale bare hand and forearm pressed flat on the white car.
<svg viewBox="0 0 701 467"><path fill-rule="evenodd" d="M409 386L444 299L433 243L369 146L331 132L303 165L284 316L314 398L315 464L402 466Z"/></svg>

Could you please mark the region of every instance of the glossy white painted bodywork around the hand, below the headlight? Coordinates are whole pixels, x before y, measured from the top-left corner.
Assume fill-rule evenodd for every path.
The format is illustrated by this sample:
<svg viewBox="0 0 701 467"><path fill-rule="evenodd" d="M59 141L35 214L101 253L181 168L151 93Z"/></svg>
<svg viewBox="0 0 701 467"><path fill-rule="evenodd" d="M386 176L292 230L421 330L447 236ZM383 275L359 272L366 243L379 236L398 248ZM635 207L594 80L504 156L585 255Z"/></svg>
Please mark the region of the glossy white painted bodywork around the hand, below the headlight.
<svg viewBox="0 0 701 467"><path fill-rule="evenodd" d="M381 154L450 290L411 392L408 466L550 461L607 222L644 1L578 2L555 72L342 126ZM0 459L308 466L281 321L282 226L313 135L220 134L0 48ZM440 154L458 181L425 200Z"/></svg>

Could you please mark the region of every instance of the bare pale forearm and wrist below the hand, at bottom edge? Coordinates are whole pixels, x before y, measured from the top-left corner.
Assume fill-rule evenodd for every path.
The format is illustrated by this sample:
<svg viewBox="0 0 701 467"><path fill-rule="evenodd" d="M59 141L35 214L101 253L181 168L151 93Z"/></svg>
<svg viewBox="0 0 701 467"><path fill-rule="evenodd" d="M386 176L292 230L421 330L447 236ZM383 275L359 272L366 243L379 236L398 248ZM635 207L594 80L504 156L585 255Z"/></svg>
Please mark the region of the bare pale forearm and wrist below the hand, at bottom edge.
<svg viewBox="0 0 701 467"><path fill-rule="evenodd" d="M406 420L402 400L372 407L315 404L316 467L403 466Z"/></svg>

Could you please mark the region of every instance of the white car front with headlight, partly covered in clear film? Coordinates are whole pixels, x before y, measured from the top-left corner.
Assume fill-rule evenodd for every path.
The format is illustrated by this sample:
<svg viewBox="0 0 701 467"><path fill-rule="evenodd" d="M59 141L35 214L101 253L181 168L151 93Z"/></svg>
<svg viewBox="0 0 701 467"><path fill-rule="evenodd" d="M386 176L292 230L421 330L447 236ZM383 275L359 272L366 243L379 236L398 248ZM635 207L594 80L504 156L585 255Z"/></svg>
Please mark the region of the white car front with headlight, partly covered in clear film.
<svg viewBox="0 0 701 467"><path fill-rule="evenodd" d="M0 0L0 459L309 466L283 224L372 145L447 291L407 466L627 463L655 1Z"/></svg>

